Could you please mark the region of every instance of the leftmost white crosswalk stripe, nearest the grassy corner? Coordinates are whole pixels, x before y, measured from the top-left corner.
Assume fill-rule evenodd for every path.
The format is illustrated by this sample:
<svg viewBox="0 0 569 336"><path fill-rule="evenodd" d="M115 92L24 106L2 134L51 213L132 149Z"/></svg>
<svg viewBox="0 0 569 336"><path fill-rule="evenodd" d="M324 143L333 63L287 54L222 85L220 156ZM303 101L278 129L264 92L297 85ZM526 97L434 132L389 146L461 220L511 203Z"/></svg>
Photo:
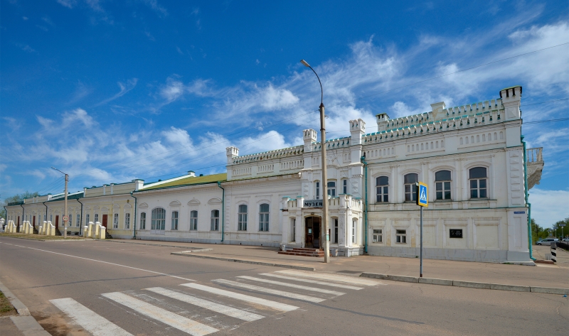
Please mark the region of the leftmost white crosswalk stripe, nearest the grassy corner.
<svg viewBox="0 0 569 336"><path fill-rule="evenodd" d="M73 300L73 298L58 298L49 300L55 307L67 314L75 324L90 332L93 336L132 336L115 323L98 315L94 311Z"/></svg>

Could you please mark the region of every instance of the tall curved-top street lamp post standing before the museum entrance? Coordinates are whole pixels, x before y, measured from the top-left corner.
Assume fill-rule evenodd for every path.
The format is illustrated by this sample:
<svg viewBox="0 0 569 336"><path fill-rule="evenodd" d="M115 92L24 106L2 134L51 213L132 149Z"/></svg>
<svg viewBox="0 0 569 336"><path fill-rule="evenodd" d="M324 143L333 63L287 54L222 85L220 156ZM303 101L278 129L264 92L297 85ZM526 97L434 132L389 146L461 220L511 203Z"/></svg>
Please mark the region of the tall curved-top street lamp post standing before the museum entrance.
<svg viewBox="0 0 569 336"><path fill-rule="evenodd" d="M324 234L320 234L320 242L322 241L322 237L324 237L324 262L330 262L330 236L328 234L329 225L328 225L328 173L326 172L326 125L324 118L326 117L324 114L324 90L322 89L322 82L320 81L320 77L312 69L312 67L307 63L305 60L300 60L304 66L309 67L314 75L318 78L318 82L320 84L320 144L322 148L322 227L324 227Z"/></svg>

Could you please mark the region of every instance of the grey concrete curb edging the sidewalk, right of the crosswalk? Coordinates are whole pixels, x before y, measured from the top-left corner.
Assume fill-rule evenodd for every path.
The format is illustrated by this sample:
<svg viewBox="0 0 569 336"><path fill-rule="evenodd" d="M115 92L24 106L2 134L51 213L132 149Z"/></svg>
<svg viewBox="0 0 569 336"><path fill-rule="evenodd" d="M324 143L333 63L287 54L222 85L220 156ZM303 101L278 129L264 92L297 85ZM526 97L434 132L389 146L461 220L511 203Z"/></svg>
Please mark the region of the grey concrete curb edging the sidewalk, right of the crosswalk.
<svg viewBox="0 0 569 336"><path fill-rule="evenodd" d="M514 292L526 292L526 293L531 292L531 293L569 295L569 288L517 286L517 285L505 285L502 283L484 283L484 282L459 281L459 280L448 280L448 279L437 279L437 278L418 278L415 276L395 276L390 274L379 274L379 273L361 273L360 276L363 278L375 278L381 280L403 281L410 283L425 283L425 284L439 285L439 286L493 289L495 291L514 291Z"/></svg>

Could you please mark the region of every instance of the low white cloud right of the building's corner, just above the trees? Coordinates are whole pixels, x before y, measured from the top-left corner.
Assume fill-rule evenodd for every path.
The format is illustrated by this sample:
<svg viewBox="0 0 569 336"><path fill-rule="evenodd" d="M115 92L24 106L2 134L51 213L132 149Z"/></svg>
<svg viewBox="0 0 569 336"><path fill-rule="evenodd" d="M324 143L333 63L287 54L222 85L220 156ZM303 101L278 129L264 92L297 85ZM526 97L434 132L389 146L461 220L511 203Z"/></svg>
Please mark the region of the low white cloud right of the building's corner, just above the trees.
<svg viewBox="0 0 569 336"><path fill-rule="evenodd" d="M529 190L531 217L542 227L551 227L555 222L569 217L569 190Z"/></svg>

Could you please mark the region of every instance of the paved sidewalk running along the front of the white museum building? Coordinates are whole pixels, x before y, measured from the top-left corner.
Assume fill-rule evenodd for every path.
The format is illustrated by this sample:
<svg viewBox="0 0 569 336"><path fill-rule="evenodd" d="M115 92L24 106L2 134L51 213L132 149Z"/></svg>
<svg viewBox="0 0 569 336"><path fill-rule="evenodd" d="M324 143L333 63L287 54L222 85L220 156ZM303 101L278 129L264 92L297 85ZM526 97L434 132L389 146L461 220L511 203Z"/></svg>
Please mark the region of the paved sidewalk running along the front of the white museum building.
<svg viewBox="0 0 569 336"><path fill-rule="evenodd" d="M419 276L419 259L385 256L352 256L331 258L324 264L324 258L309 256L288 256L277 254L278 249L263 246L242 246L224 244L197 244L182 242L156 242L129 239L109 239L107 244L124 242L128 244L156 244L172 246L172 252L189 249L211 249L193 252L188 255L211 256L217 258L241 259L273 264L314 267L315 271L329 273L382 273L399 276ZM177 246L177 247L174 247ZM172 256L186 258L186 256ZM566 258L566 259L563 259ZM558 259L569 261L569 254L558 249ZM219 261L227 262L227 261ZM458 281L502 283L518 286L543 286L569 288L569 262L561 266L520 266L510 264L491 264L469 261L449 261L423 259L423 276Z"/></svg>

